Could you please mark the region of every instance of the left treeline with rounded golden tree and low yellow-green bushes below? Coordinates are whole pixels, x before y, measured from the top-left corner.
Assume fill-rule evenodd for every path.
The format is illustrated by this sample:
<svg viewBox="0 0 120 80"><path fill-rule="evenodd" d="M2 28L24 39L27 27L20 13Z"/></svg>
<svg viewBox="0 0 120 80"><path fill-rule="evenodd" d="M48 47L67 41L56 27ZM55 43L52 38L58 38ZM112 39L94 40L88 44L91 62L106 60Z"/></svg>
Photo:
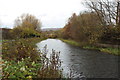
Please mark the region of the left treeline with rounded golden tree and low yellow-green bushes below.
<svg viewBox="0 0 120 80"><path fill-rule="evenodd" d="M2 39L41 37L41 25L35 16L23 14L15 20L13 29L2 30Z"/></svg>

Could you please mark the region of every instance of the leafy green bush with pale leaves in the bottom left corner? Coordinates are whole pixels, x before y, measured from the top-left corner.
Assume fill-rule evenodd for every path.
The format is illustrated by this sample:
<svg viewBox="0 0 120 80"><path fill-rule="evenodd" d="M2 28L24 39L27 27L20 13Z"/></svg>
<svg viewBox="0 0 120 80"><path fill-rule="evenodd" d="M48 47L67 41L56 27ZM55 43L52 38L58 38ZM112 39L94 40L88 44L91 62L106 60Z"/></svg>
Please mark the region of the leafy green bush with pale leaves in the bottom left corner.
<svg viewBox="0 0 120 80"><path fill-rule="evenodd" d="M3 78L36 78L41 63L36 63L28 58L21 61L4 61Z"/></svg>

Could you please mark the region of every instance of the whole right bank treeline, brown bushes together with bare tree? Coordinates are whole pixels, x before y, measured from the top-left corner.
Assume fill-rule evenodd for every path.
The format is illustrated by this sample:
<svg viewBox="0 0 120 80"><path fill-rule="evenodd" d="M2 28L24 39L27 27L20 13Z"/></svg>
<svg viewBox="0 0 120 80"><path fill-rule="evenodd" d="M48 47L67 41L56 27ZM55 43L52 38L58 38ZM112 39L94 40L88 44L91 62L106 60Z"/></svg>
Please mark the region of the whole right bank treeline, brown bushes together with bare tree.
<svg viewBox="0 0 120 80"><path fill-rule="evenodd" d="M120 2L86 2L88 11L75 13L62 29L62 37L83 44L120 44Z"/></svg>

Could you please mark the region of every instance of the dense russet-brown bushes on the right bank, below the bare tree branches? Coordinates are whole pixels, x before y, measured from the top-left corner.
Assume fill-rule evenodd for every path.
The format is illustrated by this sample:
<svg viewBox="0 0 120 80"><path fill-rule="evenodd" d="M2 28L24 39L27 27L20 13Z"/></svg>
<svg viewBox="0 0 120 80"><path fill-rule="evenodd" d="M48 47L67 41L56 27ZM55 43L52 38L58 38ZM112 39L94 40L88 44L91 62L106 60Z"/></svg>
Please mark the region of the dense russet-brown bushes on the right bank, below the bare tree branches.
<svg viewBox="0 0 120 80"><path fill-rule="evenodd" d="M87 44L104 42L119 44L119 34L118 27L102 26L95 12L73 14L62 30L64 39L72 39Z"/></svg>

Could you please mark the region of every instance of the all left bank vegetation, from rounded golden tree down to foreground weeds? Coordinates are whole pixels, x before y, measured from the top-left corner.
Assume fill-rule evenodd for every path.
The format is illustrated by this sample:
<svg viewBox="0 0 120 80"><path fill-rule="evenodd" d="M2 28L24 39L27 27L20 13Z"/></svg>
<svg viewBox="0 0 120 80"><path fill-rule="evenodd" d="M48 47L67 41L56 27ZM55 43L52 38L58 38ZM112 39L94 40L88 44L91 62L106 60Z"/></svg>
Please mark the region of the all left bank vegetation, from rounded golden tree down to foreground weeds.
<svg viewBox="0 0 120 80"><path fill-rule="evenodd" d="M3 79L62 77L60 53L53 50L47 58L47 47L43 52L36 49L36 43L47 38L40 27L41 22L35 16L24 14L16 19L13 29L3 31Z"/></svg>

